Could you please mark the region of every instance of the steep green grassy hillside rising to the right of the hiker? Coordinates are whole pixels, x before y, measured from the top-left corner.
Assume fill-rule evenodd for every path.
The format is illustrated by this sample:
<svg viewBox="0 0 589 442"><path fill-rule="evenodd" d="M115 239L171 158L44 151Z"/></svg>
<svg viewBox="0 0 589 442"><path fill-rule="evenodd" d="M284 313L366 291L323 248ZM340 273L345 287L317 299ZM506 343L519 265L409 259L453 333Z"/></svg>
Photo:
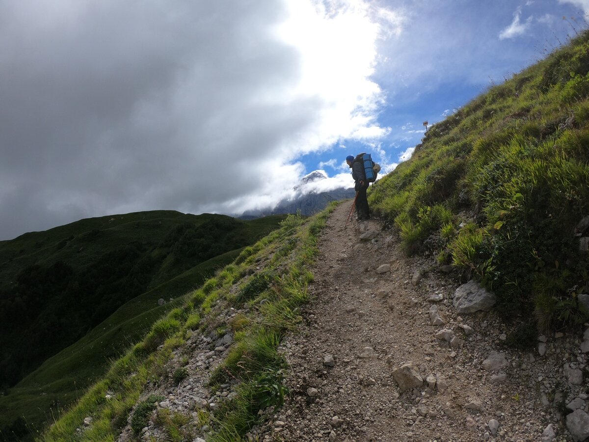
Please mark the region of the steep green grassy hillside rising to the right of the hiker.
<svg viewBox="0 0 589 442"><path fill-rule="evenodd" d="M542 328L586 317L588 71L585 32L431 127L370 196L408 253L438 253Z"/></svg>

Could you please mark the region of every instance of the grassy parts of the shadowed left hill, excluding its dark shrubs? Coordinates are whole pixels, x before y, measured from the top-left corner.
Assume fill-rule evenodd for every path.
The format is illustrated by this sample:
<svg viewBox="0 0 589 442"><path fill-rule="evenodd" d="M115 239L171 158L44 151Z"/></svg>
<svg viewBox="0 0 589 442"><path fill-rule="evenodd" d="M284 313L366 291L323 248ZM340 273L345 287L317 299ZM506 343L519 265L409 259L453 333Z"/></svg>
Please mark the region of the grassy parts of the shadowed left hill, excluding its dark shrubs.
<svg viewBox="0 0 589 442"><path fill-rule="evenodd" d="M151 236L151 240L154 240L155 235L155 240L159 240L161 232L167 232L174 225L178 225L178 222L202 223L214 217L217 215L194 216L154 211L81 220L72 225L56 227L47 232L27 233L12 242L0 243L0 252L4 253L0 256L14 255L22 250L18 253L19 258L11 261L12 270L7 273L16 273L18 265L26 266L42 260L68 259L68 250L64 250L64 247L56 254L54 245L64 238L75 235L82 236L82 239L80 242L68 244L67 247L72 250L85 248L86 253L76 253L76 258L80 258L80 262L90 263L96 256L100 256L101 252L104 253L105 248L120 244L127 236L133 235L133 240L144 240ZM244 222L246 228L240 232L241 239L254 242L275 229L284 217L278 215ZM111 221L112 218L115 220ZM138 222L142 223L141 229L136 226ZM145 222L148 222L147 229L144 228ZM108 229L101 230L100 244L84 240L87 232L104 226L108 226ZM140 235L135 235L136 233ZM80 243L84 241L86 245L81 246ZM97 377L103 375L110 361L118 358L131 344L142 338L161 315L181 304L184 294L213 275L216 269L233 261L242 249L231 250L192 266L167 281L166 278L160 278L160 281L165 282L128 301L80 341L47 359L41 367L12 388L8 395L0 397L0 427L24 415L29 429L35 431L41 428L52 415L58 414L59 410L77 399ZM157 301L160 298L177 299L167 305L158 306Z"/></svg>

